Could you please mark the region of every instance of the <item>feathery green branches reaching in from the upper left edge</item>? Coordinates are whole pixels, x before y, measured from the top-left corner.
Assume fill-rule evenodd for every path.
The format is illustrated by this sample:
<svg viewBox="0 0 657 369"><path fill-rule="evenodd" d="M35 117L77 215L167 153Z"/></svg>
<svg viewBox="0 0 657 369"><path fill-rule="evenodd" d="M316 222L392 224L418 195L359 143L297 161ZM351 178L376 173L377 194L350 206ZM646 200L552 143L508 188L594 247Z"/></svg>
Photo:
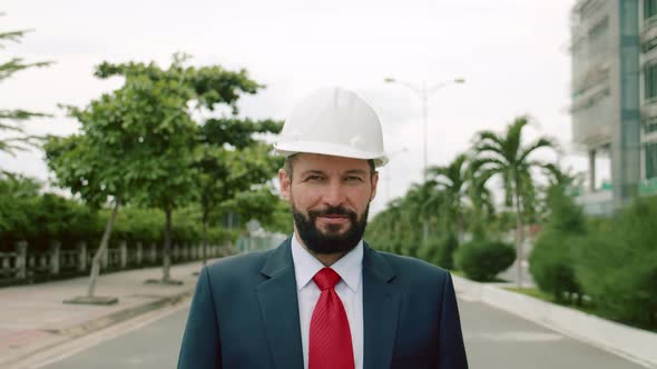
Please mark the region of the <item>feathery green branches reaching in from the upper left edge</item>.
<svg viewBox="0 0 657 369"><path fill-rule="evenodd" d="M3 16L3 13L0 13L0 17ZM0 49L4 49L8 42L19 43L27 32L29 31L0 31ZM9 59L0 61L0 82L21 70L41 68L50 64L50 61L27 62L22 58L10 57ZM26 134L23 128L20 126L20 121L46 116L47 114L42 112L0 107L0 133L7 133L7 136L0 138L0 151L16 154L16 151L26 150L28 146L36 144L36 137Z"/></svg>

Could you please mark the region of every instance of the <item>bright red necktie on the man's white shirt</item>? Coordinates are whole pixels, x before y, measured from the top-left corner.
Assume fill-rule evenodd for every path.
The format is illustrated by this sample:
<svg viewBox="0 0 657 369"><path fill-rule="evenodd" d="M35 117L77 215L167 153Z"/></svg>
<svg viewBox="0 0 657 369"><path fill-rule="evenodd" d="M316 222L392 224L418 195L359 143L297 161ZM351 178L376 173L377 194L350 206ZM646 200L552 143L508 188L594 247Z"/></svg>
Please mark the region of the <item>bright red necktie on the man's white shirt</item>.
<svg viewBox="0 0 657 369"><path fill-rule="evenodd" d="M311 319L308 369L354 369L349 320L334 289L340 276L333 269L324 268L313 280L322 295Z"/></svg>

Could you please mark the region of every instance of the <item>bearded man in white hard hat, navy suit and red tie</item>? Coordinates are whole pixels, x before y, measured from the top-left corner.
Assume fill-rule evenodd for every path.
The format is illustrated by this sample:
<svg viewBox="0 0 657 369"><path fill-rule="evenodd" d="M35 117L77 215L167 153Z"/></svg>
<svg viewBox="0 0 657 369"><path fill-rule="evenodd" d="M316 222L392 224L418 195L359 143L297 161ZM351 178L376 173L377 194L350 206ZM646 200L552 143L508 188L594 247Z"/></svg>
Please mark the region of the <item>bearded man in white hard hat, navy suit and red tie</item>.
<svg viewBox="0 0 657 369"><path fill-rule="evenodd" d="M386 161L374 110L316 91L276 150L294 235L202 270L178 368L467 368L450 275L363 241Z"/></svg>

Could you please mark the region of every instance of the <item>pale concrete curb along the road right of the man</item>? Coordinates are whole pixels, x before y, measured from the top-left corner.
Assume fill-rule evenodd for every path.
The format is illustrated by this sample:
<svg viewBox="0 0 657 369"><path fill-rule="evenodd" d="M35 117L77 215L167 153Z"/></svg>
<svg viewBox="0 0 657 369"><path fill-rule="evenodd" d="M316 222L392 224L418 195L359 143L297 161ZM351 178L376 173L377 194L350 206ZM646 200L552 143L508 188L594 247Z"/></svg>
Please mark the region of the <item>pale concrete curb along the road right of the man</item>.
<svg viewBox="0 0 657 369"><path fill-rule="evenodd" d="M646 368L657 369L657 333L508 291L499 286L454 275L452 280L457 292L465 299L488 303Z"/></svg>

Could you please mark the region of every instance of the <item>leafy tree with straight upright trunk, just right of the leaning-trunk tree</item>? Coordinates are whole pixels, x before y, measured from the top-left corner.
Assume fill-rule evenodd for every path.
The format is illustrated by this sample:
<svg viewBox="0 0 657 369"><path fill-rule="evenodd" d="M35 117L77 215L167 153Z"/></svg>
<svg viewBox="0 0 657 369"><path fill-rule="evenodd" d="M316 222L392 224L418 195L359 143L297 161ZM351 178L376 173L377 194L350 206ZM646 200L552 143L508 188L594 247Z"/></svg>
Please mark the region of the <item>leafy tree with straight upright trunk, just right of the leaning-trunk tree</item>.
<svg viewBox="0 0 657 369"><path fill-rule="evenodd" d="M130 120L138 122L133 138L143 143L143 156L137 163L146 176L135 178L135 183L141 189L138 201L165 213L164 283L171 282L173 212L199 197L195 182L199 134L190 117L192 109L213 111L219 104L227 104L237 113L239 94L255 93L262 87L248 79L245 70L185 66L188 59L186 54L176 54L167 69L154 62L104 62L96 72L100 78L124 77L126 87L138 92L134 108L139 114ZM143 116L143 111L149 114Z"/></svg>

